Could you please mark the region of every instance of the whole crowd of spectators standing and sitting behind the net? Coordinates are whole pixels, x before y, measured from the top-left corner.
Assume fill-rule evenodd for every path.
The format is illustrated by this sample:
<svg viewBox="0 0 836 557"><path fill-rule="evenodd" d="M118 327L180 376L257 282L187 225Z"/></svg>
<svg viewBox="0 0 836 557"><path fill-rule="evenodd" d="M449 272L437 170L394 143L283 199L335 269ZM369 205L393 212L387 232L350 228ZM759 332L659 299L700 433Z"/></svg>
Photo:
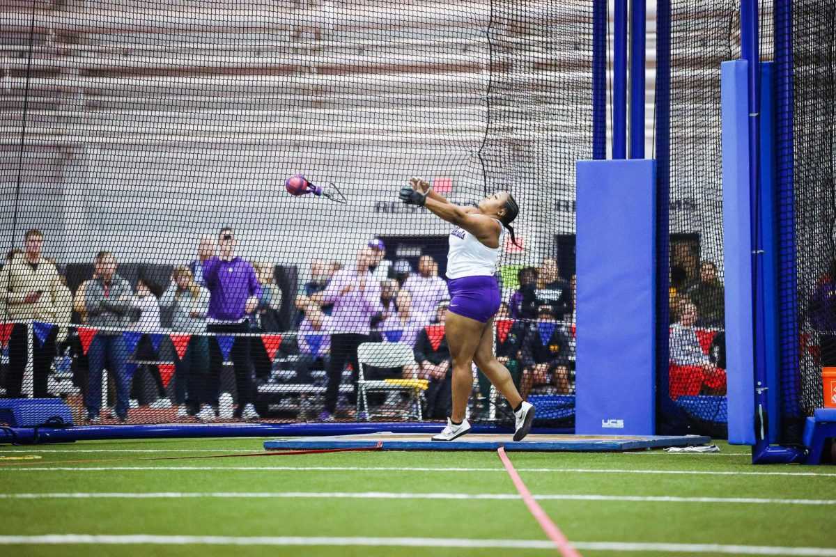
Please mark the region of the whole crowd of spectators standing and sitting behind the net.
<svg viewBox="0 0 836 557"><path fill-rule="evenodd" d="M313 372L324 372L319 379L324 387L320 419L334 419L339 385L347 370L354 384L348 402L356 397L357 349L369 341L404 342L413 347L415 364L394 370L370 368L376 374L372 378L427 379L427 415L446 416L451 367L443 325L448 294L432 256L421 256L414 270L410 261L386 259L385 243L373 238L357 251L352 265L314 259L309 281L298 292L283 292L275 281L274 263L246 261L236 255L236 248L231 228L223 228L217 237L201 236L196 259L177 266L168 285L140 276L135 289L120 276L115 255L101 251L95 257L93 275L73 296L54 261L41 256L43 234L29 230L24 249L8 255L0 275L3 311L8 321L18 322L8 341L6 396L23 396L30 346L33 395L49 396L50 366L59 347L71 343L66 325L74 312L76 322L97 331L88 350L74 352L79 369L76 383L90 422L101 419L104 369L115 392L108 416L115 420L125 421L129 408L136 406L140 395L135 377L139 374L152 380L150 408L176 407L178 416L201 420L259 418L257 385L276 378L275 357L257 338L261 333L281 331L278 311L283 297L290 297L298 312L292 323L295 334L284 336L279 355L292 356L288 361L294 382L312 384L318 381ZM716 266L703 261L698 280L691 284L678 272L671 271L671 366L693 373L699 370L703 390L721 393L725 373L701 351L695 334L695 327L722 325L723 286ZM575 277L566 280L558 261L546 258L538 266L519 269L517 285L507 291L507 302L497 315L497 358L512 373L523 397L537 387L559 394L573 392L574 290ZM156 365L159 349L152 342L151 333L162 327L161 309L171 314L172 332L191 335L185 352L173 358L173 388L163 381ZM62 327L54 327L43 342L30 345L24 323L31 321ZM129 345L122 334L125 330L143 333L138 344ZM232 362L234 405L225 404L221 396L226 361ZM477 376L484 401L489 382L481 373Z"/></svg>

